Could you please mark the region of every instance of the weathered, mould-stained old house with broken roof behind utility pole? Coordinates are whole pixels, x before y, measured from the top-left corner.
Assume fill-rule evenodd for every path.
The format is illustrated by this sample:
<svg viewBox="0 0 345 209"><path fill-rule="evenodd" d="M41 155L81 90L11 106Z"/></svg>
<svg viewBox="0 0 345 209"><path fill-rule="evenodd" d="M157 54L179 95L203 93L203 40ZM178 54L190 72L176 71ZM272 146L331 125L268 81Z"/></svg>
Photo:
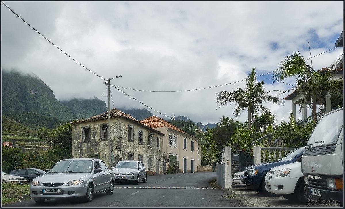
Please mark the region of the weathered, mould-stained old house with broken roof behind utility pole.
<svg viewBox="0 0 345 209"><path fill-rule="evenodd" d="M120 160L140 160L148 174L163 173L164 133L114 108L110 110L110 150L108 112L71 122L72 156L99 158L109 167ZM109 156L111 153L111 157Z"/></svg>

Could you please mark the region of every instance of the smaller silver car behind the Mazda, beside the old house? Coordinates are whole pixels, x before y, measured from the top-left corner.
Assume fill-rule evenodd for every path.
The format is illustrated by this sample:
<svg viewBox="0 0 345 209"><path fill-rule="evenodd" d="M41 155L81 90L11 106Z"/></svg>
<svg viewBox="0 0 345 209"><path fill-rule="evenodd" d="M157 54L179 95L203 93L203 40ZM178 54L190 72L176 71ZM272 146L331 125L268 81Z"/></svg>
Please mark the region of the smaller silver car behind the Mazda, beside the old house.
<svg viewBox="0 0 345 209"><path fill-rule="evenodd" d="M131 181L139 184L139 181L147 181L147 173L144 164L138 160L119 161L112 168L115 173L115 182Z"/></svg>

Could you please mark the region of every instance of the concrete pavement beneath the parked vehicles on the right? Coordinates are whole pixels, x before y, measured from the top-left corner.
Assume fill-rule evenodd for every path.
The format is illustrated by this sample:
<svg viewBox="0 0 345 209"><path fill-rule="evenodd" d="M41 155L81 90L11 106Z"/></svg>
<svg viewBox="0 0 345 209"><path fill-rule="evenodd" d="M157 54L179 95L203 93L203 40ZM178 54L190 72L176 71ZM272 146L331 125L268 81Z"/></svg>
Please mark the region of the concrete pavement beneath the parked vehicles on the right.
<svg viewBox="0 0 345 209"><path fill-rule="evenodd" d="M283 196L279 197L267 197L264 194L257 193L254 190L246 189L243 186L233 186L233 188L224 189L229 195L236 195L236 198L239 199L246 207L339 207L336 204L326 205L325 201L322 204L319 201L318 205L303 205L296 203L296 201L287 200Z"/></svg>

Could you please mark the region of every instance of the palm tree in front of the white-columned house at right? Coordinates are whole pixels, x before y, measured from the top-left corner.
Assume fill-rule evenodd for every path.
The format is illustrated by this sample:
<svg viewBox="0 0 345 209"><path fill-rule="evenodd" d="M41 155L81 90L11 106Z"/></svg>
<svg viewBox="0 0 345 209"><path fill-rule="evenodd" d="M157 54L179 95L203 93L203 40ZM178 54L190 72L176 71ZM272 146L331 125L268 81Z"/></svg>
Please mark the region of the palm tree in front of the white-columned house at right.
<svg viewBox="0 0 345 209"><path fill-rule="evenodd" d="M308 108L312 108L315 122L317 120L316 104L325 103L324 98L327 92L336 99L343 98L343 78L332 80L331 70L327 70L325 73L315 72L312 67L305 63L299 52L285 57L279 66L273 78L282 81L287 77L297 76L296 89L291 90L296 90L297 94L304 95L299 111L307 104ZM312 101L312 103L308 101Z"/></svg>

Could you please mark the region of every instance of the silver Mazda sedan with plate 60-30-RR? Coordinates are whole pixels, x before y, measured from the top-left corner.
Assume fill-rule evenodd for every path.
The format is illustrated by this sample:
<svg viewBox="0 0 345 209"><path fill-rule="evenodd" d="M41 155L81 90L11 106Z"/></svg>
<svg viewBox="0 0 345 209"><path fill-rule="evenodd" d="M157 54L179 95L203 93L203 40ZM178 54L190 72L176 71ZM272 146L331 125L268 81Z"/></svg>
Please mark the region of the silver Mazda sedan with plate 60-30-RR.
<svg viewBox="0 0 345 209"><path fill-rule="evenodd" d="M30 184L30 196L35 202L46 199L82 197L90 202L93 193L114 191L114 172L100 159L76 158L57 162L47 174Z"/></svg>

